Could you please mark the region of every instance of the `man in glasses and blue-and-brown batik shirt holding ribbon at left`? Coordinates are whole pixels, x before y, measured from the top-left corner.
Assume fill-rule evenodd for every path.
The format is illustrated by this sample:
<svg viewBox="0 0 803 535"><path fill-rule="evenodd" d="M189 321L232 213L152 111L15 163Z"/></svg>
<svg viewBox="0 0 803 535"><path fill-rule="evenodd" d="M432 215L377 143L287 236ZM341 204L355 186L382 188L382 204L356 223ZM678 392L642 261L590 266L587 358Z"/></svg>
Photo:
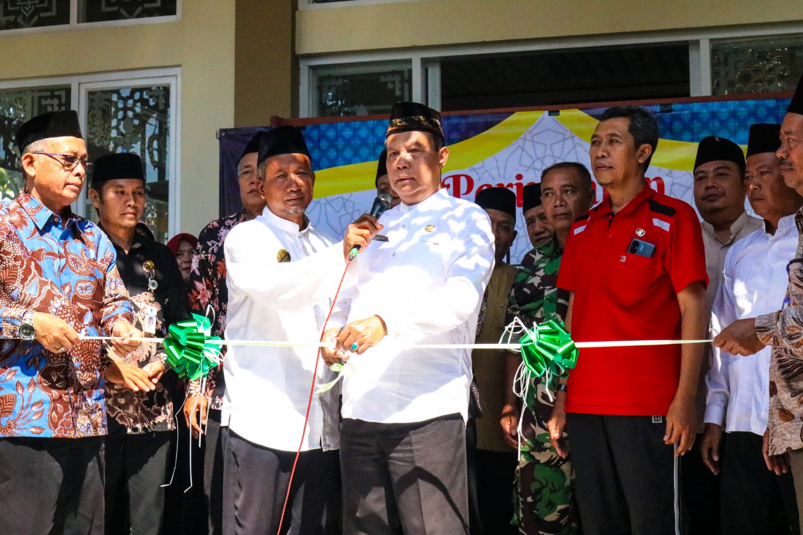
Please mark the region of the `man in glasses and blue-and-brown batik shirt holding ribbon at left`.
<svg viewBox="0 0 803 535"><path fill-rule="evenodd" d="M25 190L0 205L0 533L104 533L106 404L99 341L141 333L112 243L73 214L86 172L78 114L17 131Z"/></svg>

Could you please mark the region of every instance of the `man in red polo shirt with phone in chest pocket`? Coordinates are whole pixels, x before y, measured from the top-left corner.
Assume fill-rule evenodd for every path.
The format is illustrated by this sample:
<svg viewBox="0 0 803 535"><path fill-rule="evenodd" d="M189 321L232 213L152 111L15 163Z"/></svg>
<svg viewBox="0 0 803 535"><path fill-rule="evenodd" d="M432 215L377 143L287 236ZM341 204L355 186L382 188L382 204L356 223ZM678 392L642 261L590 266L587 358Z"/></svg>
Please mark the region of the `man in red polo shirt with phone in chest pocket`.
<svg viewBox="0 0 803 535"><path fill-rule="evenodd" d="M658 125L642 108L609 108L591 138L607 198L569 232L558 286L575 341L700 339L708 282L700 225L687 203L646 185ZM572 435L584 533L680 533L679 455L695 440L702 345L582 349L550 420Z"/></svg>

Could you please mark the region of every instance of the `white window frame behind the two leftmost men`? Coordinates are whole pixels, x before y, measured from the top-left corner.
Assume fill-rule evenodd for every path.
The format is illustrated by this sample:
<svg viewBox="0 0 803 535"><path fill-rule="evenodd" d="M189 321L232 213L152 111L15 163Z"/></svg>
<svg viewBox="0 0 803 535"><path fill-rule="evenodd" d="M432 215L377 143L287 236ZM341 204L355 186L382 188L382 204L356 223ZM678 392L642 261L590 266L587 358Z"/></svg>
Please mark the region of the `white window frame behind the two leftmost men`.
<svg viewBox="0 0 803 535"><path fill-rule="evenodd" d="M52 76L26 80L0 80L0 90L47 88L56 85L70 86L70 108L78 112L81 132L87 131L88 92L97 89L170 86L170 138L168 164L168 235L176 235L181 222L181 67L143 69L138 71L112 71L90 75ZM87 189L84 189L71 208L75 214L86 216Z"/></svg>

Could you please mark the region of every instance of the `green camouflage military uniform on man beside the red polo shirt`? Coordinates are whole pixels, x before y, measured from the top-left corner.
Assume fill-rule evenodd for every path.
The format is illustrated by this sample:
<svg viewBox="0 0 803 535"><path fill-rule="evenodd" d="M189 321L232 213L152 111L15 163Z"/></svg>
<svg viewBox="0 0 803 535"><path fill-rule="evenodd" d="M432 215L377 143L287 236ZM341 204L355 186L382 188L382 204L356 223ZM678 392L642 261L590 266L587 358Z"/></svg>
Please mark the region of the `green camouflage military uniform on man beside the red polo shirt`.
<svg viewBox="0 0 803 535"><path fill-rule="evenodd" d="M562 255L563 249L553 238L524 256L511 290L508 324L513 317L528 327L565 319L569 294L557 288ZM522 535L578 533L572 463L570 457L562 459L549 440L547 423L554 406L550 395L554 394L548 393L544 378L536 378L528 383L524 397L512 521Z"/></svg>

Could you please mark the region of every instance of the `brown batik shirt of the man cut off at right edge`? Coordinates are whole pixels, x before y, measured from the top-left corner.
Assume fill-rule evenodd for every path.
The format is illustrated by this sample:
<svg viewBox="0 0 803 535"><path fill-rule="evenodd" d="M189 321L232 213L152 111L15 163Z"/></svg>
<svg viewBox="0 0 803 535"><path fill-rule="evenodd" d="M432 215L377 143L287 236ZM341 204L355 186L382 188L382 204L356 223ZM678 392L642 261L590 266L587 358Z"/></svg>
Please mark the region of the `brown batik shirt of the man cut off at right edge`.
<svg viewBox="0 0 803 535"><path fill-rule="evenodd" d="M798 241L789 262L783 308L756 317L756 334L772 345L769 358L770 455L803 448L803 209L795 215Z"/></svg>

